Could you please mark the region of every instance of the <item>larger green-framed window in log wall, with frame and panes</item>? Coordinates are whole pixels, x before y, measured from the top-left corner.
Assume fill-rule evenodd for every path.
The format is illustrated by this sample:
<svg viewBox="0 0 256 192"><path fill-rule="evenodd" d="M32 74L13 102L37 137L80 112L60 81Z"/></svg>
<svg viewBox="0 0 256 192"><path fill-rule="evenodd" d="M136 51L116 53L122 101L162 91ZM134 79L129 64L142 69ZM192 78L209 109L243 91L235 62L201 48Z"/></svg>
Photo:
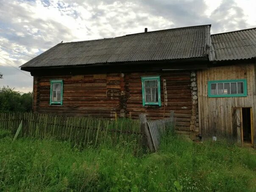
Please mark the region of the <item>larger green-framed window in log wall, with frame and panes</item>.
<svg viewBox="0 0 256 192"><path fill-rule="evenodd" d="M142 77L142 103L161 106L160 76Z"/></svg>

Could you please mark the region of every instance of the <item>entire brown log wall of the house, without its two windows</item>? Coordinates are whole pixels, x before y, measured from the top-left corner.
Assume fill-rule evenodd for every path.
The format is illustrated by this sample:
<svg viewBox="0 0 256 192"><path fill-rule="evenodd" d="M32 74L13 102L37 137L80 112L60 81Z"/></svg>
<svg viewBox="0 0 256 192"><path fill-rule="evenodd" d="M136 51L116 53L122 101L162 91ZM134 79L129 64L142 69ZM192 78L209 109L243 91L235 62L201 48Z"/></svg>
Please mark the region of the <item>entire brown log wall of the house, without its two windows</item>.
<svg viewBox="0 0 256 192"><path fill-rule="evenodd" d="M161 76L161 107L142 106L141 76L155 75ZM64 81L63 106L50 106L50 80L58 79ZM165 107L163 79L166 80L167 89ZM173 110L179 133L189 134L192 115L190 87L190 71L34 77L34 111L112 119L116 112L120 117L133 119L138 119L139 114L146 113L149 120L155 120L169 117L170 110ZM198 130L196 132L198 133Z"/></svg>

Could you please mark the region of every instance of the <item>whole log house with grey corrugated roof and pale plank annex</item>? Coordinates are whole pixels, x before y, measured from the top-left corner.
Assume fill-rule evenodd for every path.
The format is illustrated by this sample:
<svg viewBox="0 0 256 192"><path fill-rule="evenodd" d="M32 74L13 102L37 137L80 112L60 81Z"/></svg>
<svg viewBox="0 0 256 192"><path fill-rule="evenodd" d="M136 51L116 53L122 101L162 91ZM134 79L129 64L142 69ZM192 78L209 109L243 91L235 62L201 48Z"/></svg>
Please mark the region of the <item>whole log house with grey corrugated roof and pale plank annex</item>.
<svg viewBox="0 0 256 192"><path fill-rule="evenodd" d="M256 28L210 28L59 43L21 66L34 78L33 111L161 119L174 110L178 133L255 146Z"/></svg>

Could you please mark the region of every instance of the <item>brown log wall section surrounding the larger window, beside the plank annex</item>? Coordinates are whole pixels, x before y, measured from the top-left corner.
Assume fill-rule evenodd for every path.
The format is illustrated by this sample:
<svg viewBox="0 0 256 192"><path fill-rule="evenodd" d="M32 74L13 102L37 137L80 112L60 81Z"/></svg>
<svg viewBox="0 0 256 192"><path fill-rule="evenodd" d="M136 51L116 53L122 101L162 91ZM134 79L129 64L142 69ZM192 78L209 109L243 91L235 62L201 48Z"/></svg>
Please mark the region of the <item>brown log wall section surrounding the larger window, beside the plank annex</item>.
<svg viewBox="0 0 256 192"><path fill-rule="evenodd" d="M142 106L141 77L155 75L161 77L161 107ZM190 134L192 115L190 71L128 73L125 75L125 82L128 117L136 119L139 118L139 114L145 113L148 119L155 120L169 117L170 110L173 110L176 129L182 134Z"/></svg>

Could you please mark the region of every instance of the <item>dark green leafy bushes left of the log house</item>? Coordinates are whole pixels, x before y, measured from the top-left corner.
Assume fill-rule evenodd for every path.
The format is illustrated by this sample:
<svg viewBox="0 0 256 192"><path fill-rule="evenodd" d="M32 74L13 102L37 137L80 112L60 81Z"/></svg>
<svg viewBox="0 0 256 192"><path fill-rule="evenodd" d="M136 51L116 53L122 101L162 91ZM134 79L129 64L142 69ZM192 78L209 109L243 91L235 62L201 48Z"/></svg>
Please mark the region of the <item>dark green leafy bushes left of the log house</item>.
<svg viewBox="0 0 256 192"><path fill-rule="evenodd" d="M0 112L32 111L33 94L20 93L10 87L0 88Z"/></svg>

